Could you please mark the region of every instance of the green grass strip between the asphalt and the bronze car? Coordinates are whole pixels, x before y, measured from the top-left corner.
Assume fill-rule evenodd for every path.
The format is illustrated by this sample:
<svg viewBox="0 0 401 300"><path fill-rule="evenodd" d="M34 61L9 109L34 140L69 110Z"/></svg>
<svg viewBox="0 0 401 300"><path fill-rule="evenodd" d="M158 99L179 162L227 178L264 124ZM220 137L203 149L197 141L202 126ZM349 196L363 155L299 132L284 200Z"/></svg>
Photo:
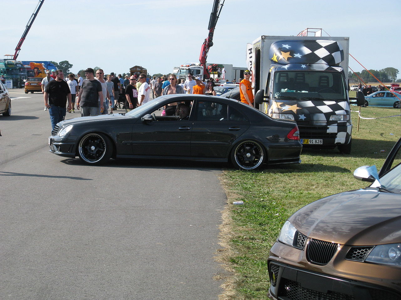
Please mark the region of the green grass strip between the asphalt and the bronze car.
<svg viewBox="0 0 401 300"><path fill-rule="evenodd" d="M350 93L350 96L354 96ZM351 110L358 107L351 106ZM361 116L379 118L399 115L394 108L362 108ZM401 136L401 117L360 120L351 112L352 150L350 155L334 150L307 150L302 164L266 167L254 172L225 170L221 182L228 205L223 214L221 239L224 247L217 260L232 271L223 285L221 300L268 299L267 258L286 219L302 206L338 192L367 186L352 173L363 165L383 162ZM384 150L384 152L381 152ZM244 201L234 206L233 201Z"/></svg>

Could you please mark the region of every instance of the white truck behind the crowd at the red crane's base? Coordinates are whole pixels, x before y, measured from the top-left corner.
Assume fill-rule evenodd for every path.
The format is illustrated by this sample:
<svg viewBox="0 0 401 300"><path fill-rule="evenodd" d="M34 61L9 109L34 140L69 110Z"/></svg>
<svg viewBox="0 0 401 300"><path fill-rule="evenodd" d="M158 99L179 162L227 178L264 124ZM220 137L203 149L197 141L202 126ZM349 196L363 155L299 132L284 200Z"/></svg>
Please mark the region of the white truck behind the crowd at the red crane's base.
<svg viewBox="0 0 401 300"><path fill-rule="evenodd" d="M238 81L239 78L244 78L244 71L247 68L233 67L232 64L206 64L211 78L224 79L224 80L235 80ZM194 77L204 77L203 66L200 63L183 64L179 67L174 67L173 74L177 78L186 79L188 73L192 73Z"/></svg>

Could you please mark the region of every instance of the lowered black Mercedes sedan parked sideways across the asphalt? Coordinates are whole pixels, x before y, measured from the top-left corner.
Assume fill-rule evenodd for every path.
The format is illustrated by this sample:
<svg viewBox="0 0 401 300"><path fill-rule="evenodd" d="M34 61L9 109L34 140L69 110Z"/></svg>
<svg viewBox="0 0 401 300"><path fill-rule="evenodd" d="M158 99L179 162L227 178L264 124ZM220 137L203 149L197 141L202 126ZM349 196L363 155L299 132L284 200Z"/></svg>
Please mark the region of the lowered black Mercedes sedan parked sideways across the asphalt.
<svg viewBox="0 0 401 300"><path fill-rule="evenodd" d="M167 104L177 116L161 116ZM183 115L185 114L189 115ZM275 120L236 100L176 94L126 114L80 117L57 123L50 151L91 165L109 158L171 158L227 162L243 170L300 163L302 145L292 120Z"/></svg>

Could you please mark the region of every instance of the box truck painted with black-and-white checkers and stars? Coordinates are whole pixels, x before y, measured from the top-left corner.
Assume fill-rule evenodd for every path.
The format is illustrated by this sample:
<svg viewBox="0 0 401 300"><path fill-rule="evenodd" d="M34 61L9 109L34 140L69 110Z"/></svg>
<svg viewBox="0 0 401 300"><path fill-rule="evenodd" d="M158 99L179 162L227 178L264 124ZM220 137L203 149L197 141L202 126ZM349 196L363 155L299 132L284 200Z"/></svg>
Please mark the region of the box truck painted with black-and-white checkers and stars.
<svg viewBox="0 0 401 300"><path fill-rule="evenodd" d="M247 46L255 106L296 121L303 146L349 154L348 49L348 37L260 36Z"/></svg>

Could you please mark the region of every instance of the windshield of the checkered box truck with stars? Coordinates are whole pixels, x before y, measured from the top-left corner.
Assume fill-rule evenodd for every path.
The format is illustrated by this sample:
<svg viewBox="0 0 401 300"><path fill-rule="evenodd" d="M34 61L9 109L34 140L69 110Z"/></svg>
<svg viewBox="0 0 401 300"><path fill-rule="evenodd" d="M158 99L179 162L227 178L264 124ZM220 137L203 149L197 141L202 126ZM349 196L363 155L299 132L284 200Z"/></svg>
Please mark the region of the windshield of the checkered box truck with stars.
<svg viewBox="0 0 401 300"><path fill-rule="evenodd" d="M276 71L273 96L301 100L327 98L344 101L347 98L342 73L337 71Z"/></svg>

